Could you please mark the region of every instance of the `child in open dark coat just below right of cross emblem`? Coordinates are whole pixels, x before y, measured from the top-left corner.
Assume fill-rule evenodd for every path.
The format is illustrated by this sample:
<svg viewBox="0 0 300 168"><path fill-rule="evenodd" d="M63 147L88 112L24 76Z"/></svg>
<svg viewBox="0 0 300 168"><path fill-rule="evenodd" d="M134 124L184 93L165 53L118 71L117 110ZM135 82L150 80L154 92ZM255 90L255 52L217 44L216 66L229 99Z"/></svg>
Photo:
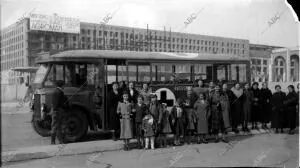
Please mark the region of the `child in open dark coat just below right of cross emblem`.
<svg viewBox="0 0 300 168"><path fill-rule="evenodd" d="M172 115L172 124L174 125L174 144L180 145L181 138L184 135L184 121L185 121L185 115L180 107L182 100L177 99L175 106L172 108L171 115Z"/></svg>

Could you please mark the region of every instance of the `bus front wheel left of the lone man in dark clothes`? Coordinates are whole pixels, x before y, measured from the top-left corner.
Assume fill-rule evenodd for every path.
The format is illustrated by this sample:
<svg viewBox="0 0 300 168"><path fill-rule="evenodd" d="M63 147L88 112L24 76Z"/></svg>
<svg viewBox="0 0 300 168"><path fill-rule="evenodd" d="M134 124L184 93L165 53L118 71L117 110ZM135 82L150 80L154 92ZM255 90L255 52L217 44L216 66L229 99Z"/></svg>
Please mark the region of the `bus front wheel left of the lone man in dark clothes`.
<svg viewBox="0 0 300 168"><path fill-rule="evenodd" d="M33 120L32 127L36 133L42 137L48 137L51 135L51 119L45 118L45 120Z"/></svg>

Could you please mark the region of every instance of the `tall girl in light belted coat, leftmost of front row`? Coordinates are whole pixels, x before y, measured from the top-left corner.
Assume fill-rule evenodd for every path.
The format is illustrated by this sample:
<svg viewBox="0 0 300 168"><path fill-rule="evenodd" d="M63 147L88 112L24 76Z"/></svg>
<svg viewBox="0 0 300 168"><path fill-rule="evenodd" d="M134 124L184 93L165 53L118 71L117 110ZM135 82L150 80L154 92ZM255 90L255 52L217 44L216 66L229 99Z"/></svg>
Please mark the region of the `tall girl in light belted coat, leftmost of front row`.
<svg viewBox="0 0 300 168"><path fill-rule="evenodd" d="M129 140L133 137L132 133L132 104L128 101L128 93L123 93L123 102L119 102L117 113L120 115L121 133L120 139L124 140L124 150L129 150Z"/></svg>

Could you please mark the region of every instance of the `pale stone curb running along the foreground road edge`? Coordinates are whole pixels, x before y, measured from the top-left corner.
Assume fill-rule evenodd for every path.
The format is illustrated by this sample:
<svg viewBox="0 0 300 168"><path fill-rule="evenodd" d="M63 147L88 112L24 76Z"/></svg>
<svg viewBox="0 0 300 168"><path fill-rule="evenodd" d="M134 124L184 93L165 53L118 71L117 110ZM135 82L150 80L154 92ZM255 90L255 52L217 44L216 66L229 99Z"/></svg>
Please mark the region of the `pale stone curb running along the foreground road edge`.
<svg viewBox="0 0 300 168"><path fill-rule="evenodd" d="M258 134L266 134L268 132L261 131L251 131L250 134L238 134L234 135L229 132L226 137L228 138L238 138L244 136L254 136ZM208 138L211 140L212 138ZM136 140L130 141L135 143ZM39 147L27 147L19 148L14 151L6 151L2 153L2 163L9 164L10 162L26 161L31 159L43 159L50 157L59 156L69 156L69 155L80 155L89 154L95 152L107 152L107 151L117 151L123 149L123 141L112 141L112 140L101 140L101 141L90 141L90 142L78 142L62 145L47 145Z"/></svg>

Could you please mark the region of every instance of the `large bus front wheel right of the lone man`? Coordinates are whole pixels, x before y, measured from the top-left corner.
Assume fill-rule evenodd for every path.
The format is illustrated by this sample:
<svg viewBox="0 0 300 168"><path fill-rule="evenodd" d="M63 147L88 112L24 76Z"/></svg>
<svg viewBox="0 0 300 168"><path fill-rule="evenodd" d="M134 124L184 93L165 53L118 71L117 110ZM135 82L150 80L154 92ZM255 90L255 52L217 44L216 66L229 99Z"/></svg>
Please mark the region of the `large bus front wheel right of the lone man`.
<svg viewBox="0 0 300 168"><path fill-rule="evenodd" d="M78 109L70 111L62 121L64 142L75 142L83 138L88 130L87 116Z"/></svg>

